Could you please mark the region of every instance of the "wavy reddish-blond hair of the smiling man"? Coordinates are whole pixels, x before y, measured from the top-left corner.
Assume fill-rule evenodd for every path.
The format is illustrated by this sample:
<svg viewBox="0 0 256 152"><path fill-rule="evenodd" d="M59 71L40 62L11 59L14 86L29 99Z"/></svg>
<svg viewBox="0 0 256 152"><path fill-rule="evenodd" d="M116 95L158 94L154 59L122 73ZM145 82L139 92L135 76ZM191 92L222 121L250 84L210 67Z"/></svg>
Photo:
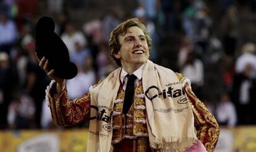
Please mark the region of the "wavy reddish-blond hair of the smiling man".
<svg viewBox="0 0 256 152"><path fill-rule="evenodd" d="M151 49L151 46L152 46L151 41L152 40L150 38L150 35L148 34L148 31L147 31L145 25L143 25L143 23L140 22L140 20L138 18L130 18L129 20L126 20L125 22L120 23L113 31L111 31L111 34L110 34L109 56L117 66L122 66L121 60L114 57L114 54L117 54L117 52L119 52L119 49L121 48L121 44L119 43L118 36L119 35L124 36L127 33L127 30L132 26L137 26L140 28L140 30L143 31L143 33L145 34L146 39L147 39L148 49L149 50Z"/></svg>

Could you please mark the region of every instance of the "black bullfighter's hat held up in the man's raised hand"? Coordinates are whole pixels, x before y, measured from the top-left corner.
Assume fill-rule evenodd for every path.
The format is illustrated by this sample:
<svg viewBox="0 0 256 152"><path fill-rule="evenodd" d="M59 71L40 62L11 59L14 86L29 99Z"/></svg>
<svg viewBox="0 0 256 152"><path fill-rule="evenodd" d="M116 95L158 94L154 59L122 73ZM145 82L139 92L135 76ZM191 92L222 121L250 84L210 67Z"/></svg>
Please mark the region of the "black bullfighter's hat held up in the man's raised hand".
<svg viewBox="0 0 256 152"><path fill-rule="evenodd" d="M48 70L54 69L54 76L72 79L77 75L77 66L69 61L69 51L54 33L54 21L50 17L41 17L36 24L36 46L38 57L48 59Z"/></svg>

